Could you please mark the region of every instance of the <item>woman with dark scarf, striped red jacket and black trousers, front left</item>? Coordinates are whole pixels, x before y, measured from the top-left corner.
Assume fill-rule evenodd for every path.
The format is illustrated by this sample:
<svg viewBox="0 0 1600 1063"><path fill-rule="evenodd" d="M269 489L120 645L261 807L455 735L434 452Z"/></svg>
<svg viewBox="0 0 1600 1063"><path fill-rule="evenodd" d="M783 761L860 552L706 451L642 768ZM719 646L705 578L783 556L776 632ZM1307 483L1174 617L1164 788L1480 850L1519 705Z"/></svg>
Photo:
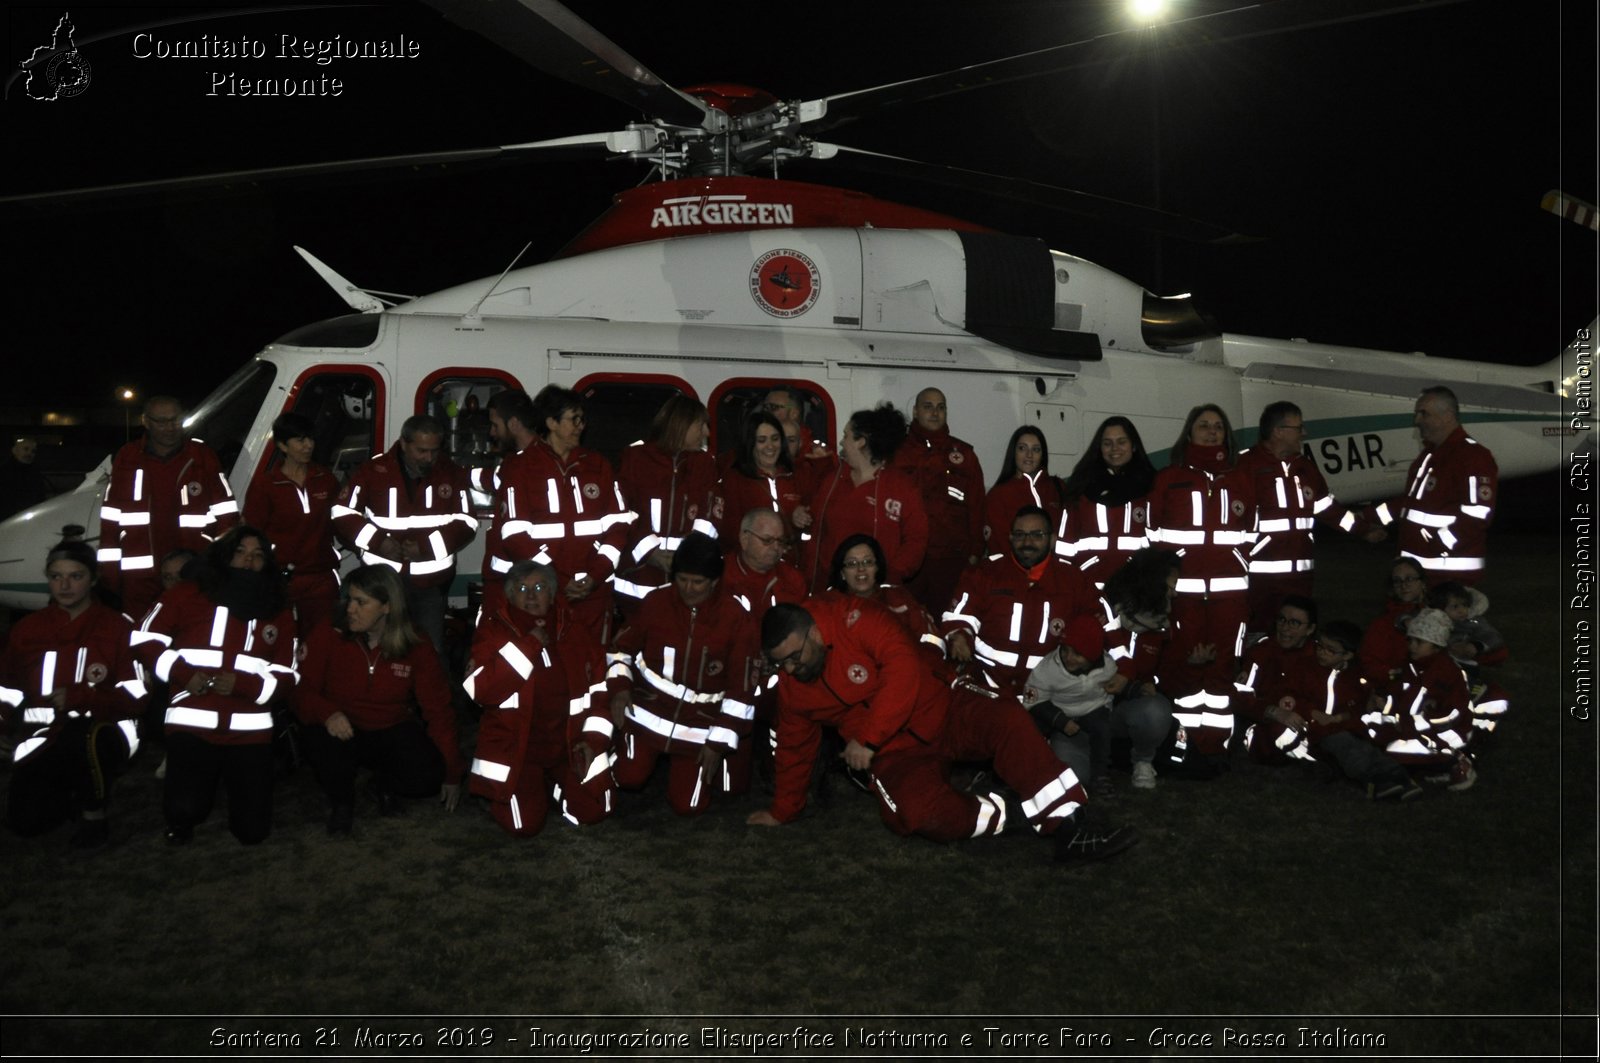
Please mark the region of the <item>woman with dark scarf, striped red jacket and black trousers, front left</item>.
<svg viewBox="0 0 1600 1063"><path fill-rule="evenodd" d="M294 616L267 536L237 525L150 607L134 653L173 692L166 706L166 840L182 845L227 788L245 845L272 829L272 704L294 688Z"/></svg>

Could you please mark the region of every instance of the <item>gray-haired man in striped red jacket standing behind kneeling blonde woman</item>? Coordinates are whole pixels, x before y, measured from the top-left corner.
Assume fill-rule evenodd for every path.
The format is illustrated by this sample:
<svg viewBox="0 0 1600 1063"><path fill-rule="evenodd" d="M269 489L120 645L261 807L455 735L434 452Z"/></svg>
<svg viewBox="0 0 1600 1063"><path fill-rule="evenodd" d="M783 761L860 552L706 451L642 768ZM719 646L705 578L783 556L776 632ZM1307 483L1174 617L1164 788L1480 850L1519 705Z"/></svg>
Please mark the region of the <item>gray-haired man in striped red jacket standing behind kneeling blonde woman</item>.
<svg viewBox="0 0 1600 1063"><path fill-rule="evenodd" d="M400 572L411 620L440 653L456 554L478 533L467 472L443 453L443 440L435 418L406 418L389 453L355 469L333 506L333 530L362 564Z"/></svg>

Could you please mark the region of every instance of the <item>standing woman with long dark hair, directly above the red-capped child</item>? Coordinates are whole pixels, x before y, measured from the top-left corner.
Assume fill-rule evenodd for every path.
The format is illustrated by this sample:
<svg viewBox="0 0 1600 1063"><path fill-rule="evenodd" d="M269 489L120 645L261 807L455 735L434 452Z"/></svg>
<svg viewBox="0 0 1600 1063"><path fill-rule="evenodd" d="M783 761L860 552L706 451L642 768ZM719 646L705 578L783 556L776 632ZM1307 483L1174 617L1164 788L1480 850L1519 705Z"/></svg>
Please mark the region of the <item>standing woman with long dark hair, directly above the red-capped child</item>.
<svg viewBox="0 0 1600 1063"><path fill-rule="evenodd" d="M1155 466L1133 421L1125 416L1101 421L1067 477L1066 519L1056 535L1056 551L1094 586L1104 586L1133 554L1150 544L1146 519L1154 483Z"/></svg>

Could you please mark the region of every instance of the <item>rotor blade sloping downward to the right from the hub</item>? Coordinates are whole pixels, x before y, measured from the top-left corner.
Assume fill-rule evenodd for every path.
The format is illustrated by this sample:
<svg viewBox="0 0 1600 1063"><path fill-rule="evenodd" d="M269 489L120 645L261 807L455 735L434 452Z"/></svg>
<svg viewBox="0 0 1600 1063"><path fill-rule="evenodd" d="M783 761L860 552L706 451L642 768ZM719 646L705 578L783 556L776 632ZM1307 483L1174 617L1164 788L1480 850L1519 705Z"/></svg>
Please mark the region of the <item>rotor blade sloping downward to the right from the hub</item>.
<svg viewBox="0 0 1600 1063"><path fill-rule="evenodd" d="M1043 207L1046 210L1077 215L1080 218L1090 218L1093 221L1109 223L1118 227L1142 229L1146 232L1187 240L1190 243L1229 245L1253 243L1261 240L1261 237L1234 232L1222 226L1200 221L1198 218L1174 215L1155 207L1142 207L1139 203L1128 203L1106 195L1094 195L1093 192L1078 192L1075 189L1062 189L1054 184L1006 178L997 173L984 173L981 170L963 170L960 166L918 162L901 155L869 152L859 147L846 147L845 144L813 142L813 158L835 158L837 162L834 165L843 165L853 170L882 173L922 184L982 192L984 195L1010 199L1030 207Z"/></svg>

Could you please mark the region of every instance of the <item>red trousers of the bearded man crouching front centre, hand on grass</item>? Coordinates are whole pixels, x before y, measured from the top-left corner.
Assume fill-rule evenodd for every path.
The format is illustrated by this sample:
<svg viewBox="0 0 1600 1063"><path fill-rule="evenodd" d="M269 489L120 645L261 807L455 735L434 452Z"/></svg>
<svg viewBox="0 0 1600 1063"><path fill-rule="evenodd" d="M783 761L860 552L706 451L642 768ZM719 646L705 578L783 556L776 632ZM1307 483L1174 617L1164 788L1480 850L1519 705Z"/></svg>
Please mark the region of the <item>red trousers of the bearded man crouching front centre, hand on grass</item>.
<svg viewBox="0 0 1600 1063"><path fill-rule="evenodd" d="M952 762L989 759L995 773L1026 796L1022 810L1040 834L1053 834L1088 799L1078 776L1056 759L1014 698L957 684L944 730L933 744L896 748L872 759L878 815L896 834L936 842L1014 829L997 796L950 786Z"/></svg>

